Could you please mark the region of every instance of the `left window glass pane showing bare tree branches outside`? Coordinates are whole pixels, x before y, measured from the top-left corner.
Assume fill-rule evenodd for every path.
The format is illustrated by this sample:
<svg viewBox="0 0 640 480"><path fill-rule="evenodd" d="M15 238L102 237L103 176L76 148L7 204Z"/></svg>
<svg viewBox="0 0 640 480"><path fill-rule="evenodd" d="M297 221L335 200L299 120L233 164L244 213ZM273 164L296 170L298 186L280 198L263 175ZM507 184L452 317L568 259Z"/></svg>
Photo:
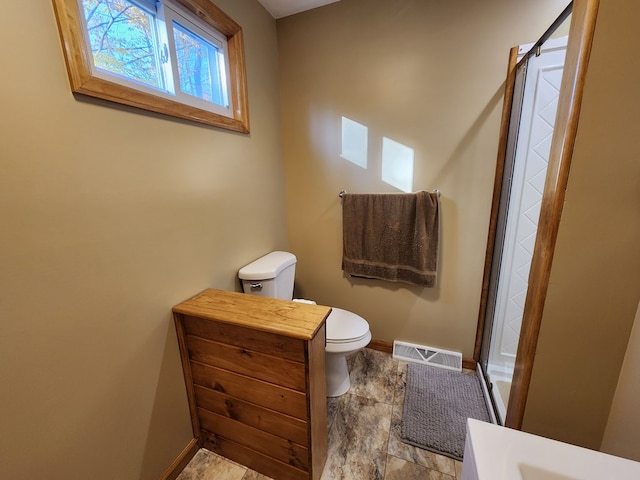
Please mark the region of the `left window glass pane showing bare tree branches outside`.
<svg viewBox="0 0 640 480"><path fill-rule="evenodd" d="M162 88L154 16L128 0L82 0L94 65Z"/></svg>

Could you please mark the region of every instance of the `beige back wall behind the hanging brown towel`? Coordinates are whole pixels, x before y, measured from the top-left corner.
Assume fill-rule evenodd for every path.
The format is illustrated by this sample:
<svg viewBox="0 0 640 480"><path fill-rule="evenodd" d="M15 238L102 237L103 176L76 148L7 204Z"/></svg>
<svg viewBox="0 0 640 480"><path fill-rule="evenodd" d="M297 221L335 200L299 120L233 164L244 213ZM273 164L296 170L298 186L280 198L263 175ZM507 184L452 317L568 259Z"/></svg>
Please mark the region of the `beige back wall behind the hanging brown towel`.
<svg viewBox="0 0 640 480"><path fill-rule="evenodd" d="M278 21L289 241L297 294L363 315L373 337L472 356L509 49L566 0L342 0ZM340 158L341 117L369 164ZM338 192L380 179L382 137L415 150L414 190L442 191L439 285L345 278Z"/></svg>

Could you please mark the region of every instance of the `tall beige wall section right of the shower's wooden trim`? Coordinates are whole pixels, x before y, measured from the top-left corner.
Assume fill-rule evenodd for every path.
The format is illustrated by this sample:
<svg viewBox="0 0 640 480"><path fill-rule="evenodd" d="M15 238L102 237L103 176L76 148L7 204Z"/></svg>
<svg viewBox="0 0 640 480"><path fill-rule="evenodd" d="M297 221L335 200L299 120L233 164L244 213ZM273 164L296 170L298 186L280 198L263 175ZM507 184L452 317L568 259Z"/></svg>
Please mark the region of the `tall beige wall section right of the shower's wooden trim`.
<svg viewBox="0 0 640 480"><path fill-rule="evenodd" d="M523 424L594 449L640 297L638 15L634 0L600 2Z"/></svg>

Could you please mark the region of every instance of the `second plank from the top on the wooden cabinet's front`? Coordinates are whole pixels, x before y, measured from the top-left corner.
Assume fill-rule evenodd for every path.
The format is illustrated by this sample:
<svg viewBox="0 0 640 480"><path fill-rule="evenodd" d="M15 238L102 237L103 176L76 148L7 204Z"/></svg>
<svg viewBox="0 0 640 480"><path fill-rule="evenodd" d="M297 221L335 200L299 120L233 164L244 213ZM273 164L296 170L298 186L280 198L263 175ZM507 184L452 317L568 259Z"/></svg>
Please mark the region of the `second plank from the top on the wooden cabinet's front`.
<svg viewBox="0 0 640 480"><path fill-rule="evenodd" d="M306 390L303 363L292 362L242 347L212 342L200 337L188 335L186 340L191 360L300 392Z"/></svg>

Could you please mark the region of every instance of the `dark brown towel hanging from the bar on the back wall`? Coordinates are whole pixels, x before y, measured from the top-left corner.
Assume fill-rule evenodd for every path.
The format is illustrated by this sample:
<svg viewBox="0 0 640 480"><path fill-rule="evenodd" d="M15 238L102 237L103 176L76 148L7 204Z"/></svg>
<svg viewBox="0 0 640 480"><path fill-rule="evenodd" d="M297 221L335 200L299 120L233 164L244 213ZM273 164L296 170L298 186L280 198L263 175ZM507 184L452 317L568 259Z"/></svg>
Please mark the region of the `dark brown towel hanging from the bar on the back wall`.
<svg viewBox="0 0 640 480"><path fill-rule="evenodd" d="M438 194L374 193L342 197L342 269L358 277L436 285Z"/></svg>

